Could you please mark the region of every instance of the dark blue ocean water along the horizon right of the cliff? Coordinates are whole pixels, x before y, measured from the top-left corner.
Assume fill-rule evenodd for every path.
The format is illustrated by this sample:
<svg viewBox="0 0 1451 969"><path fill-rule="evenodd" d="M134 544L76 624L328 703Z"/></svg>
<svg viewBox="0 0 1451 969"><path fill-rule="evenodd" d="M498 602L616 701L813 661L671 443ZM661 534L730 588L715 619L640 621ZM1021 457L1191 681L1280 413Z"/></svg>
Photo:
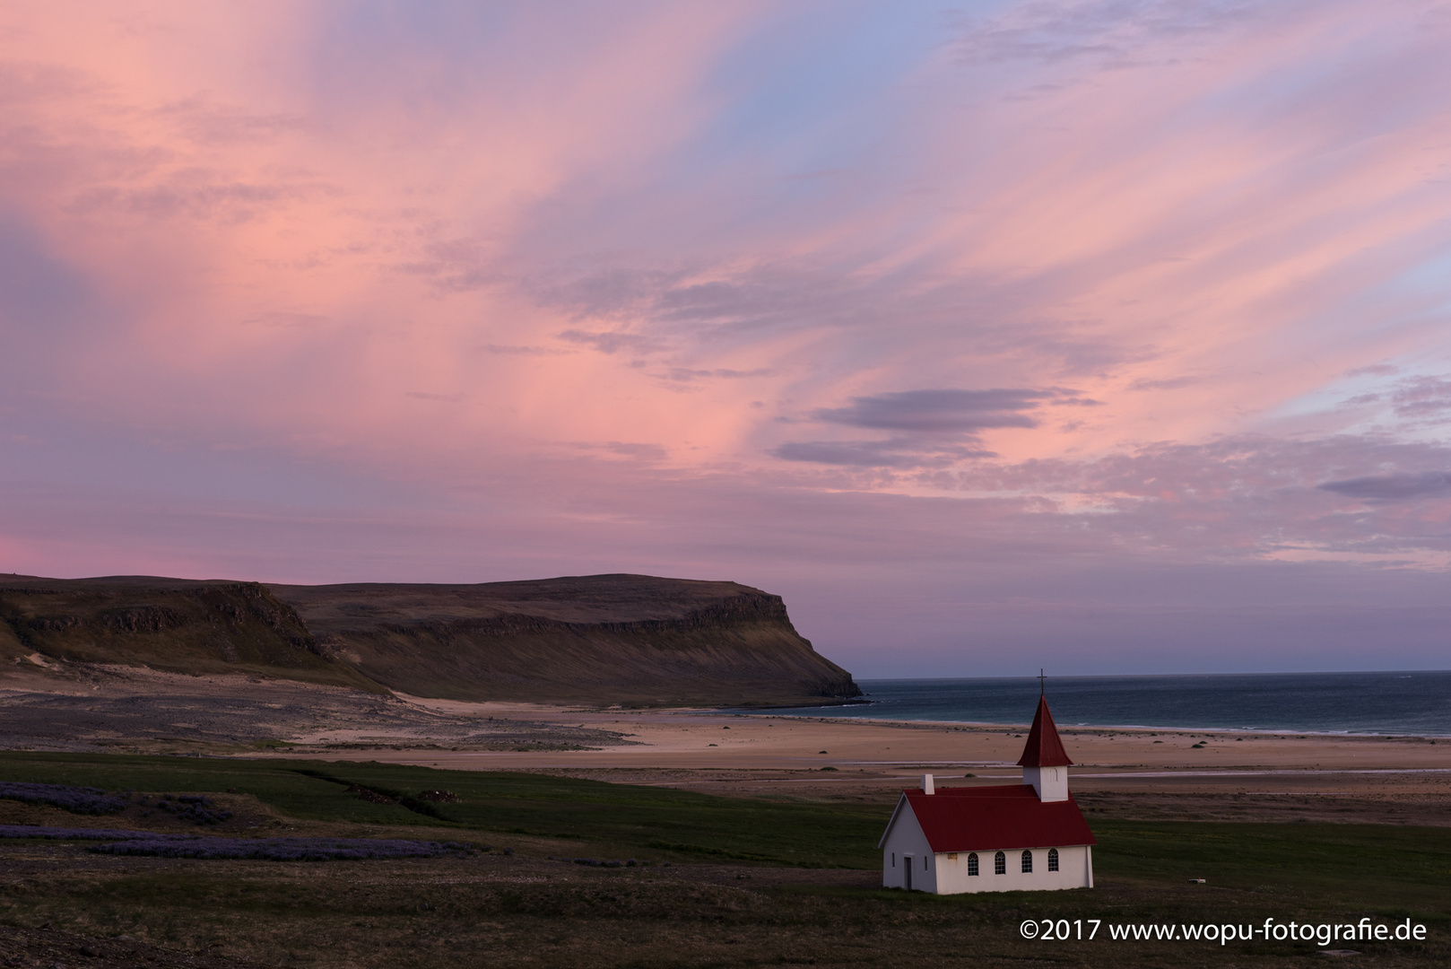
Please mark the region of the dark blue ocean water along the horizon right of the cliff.
<svg viewBox="0 0 1451 969"><path fill-rule="evenodd" d="M869 703L782 716L1027 723L1037 677L859 680ZM1451 737L1451 671L1049 677L1059 726Z"/></svg>

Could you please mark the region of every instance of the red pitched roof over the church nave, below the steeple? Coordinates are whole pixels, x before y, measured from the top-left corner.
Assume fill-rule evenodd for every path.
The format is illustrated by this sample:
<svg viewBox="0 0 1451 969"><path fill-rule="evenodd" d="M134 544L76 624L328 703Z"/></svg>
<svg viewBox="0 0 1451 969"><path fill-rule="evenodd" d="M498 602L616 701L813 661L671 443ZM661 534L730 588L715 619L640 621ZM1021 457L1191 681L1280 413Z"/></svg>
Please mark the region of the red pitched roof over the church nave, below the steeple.
<svg viewBox="0 0 1451 969"><path fill-rule="evenodd" d="M904 790L903 796L933 851L1098 844L1072 796L1045 803L1032 784L939 787L933 795L914 787ZM892 821L903 814L903 803L898 802ZM889 831L891 824L887 827Z"/></svg>

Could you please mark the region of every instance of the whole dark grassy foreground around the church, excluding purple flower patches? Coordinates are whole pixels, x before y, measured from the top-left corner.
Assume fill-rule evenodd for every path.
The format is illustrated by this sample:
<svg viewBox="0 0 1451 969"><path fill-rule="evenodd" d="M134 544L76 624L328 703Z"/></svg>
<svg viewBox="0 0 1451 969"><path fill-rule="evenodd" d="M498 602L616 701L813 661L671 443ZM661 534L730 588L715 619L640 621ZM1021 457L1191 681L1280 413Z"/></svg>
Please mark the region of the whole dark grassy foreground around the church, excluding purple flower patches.
<svg viewBox="0 0 1451 969"><path fill-rule="evenodd" d="M476 846L445 859L293 863L0 841L7 965L1293 966L1323 965L1326 946L1114 941L1109 927L1365 917L1410 918L1426 925L1426 940L1328 947L1361 953L1349 956L1357 965L1451 965L1448 828L1096 818L1098 888L936 898L876 888L887 814L876 805L99 754L0 754L0 780L138 792L100 816L0 800L0 824ZM429 790L459 800L424 800ZM139 792L151 792L145 805ZM158 811L161 792L205 793L232 816L197 828ZM1207 883L1190 885L1191 876ZM1094 940L1043 941L1022 937L1024 920L1065 920L1071 934L1080 921L1084 934L1093 920L1101 925Z"/></svg>

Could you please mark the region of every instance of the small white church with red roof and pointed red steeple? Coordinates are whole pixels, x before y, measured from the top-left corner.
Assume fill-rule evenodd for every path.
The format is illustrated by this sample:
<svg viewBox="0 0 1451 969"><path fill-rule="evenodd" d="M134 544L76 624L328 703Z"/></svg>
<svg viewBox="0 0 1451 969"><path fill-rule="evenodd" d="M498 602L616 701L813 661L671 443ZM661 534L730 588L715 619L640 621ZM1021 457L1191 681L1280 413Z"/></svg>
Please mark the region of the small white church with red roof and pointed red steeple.
<svg viewBox="0 0 1451 969"><path fill-rule="evenodd" d="M878 847L882 885L937 895L1093 888L1093 832L1068 793L1048 697L1019 758L1022 784L904 790Z"/></svg>

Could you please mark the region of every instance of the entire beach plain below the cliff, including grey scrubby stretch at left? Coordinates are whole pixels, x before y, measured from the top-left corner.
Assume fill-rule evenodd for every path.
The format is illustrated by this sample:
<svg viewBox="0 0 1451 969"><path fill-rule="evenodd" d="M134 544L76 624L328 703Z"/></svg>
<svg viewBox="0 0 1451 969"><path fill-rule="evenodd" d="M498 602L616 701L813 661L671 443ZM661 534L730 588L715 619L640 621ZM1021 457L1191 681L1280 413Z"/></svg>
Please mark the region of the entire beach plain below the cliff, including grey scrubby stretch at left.
<svg viewBox="0 0 1451 969"><path fill-rule="evenodd" d="M923 773L949 786L1010 783L1026 732L1026 723L466 703L118 667L70 681L7 673L0 719L13 748L544 771L734 796L889 803ZM1061 734L1090 814L1451 824L1445 738Z"/></svg>

